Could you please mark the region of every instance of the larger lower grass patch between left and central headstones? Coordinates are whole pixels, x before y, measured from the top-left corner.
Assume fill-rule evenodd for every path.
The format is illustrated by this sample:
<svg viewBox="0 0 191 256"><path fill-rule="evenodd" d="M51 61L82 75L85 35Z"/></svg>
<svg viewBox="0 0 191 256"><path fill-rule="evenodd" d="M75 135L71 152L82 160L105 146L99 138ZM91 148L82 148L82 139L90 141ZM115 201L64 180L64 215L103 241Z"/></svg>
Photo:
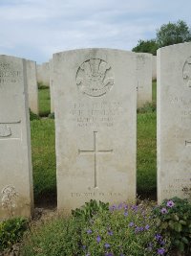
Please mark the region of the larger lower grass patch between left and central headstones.
<svg viewBox="0 0 191 256"><path fill-rule="evenodd" d="M54 121L33 120L31 129L34 198L38 200L56 192Z"/></svg>

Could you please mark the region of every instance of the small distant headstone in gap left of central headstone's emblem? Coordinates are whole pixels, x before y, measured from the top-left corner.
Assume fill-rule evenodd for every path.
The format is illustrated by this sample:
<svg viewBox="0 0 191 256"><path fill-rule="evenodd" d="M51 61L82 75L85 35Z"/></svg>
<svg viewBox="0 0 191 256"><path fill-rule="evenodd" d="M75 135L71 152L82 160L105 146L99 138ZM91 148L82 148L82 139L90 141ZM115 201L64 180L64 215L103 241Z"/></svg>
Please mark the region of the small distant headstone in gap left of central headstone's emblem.
<svg viewBox="0 0 191 256"><path fill-rule="evenodd" d="M50 66L49 62L44 62L41 65L37 65L37 81L42 82L44 85L50 85Z"/></svg>

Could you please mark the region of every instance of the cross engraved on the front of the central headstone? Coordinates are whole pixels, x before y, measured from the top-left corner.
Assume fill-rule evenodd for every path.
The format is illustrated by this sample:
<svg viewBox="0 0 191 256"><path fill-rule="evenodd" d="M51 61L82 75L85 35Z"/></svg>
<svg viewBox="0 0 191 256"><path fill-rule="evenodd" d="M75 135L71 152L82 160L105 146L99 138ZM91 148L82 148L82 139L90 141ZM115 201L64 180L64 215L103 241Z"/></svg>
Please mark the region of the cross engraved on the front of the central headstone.
<svg viewBox="0 0 191 256"><path fill-rule="evenodd" d="M98 187L98 167L97 167L97 155L104 153L112 153L113 150L98 151L97 150L97 131L94 131L94 150L93 151L81 151L78 150L79 154L93 154L95 156L95 188Z"/></svg>

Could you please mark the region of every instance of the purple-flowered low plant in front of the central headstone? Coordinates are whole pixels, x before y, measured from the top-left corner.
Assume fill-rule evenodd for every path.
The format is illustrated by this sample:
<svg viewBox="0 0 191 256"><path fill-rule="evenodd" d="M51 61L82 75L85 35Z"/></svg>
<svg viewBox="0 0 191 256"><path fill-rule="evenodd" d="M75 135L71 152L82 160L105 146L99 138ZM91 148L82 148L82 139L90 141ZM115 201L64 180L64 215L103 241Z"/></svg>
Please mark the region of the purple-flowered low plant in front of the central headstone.
<svg viewBox="0 0 191 256"><path fill-rule="evenodd" d="M166 255L169 240L157 230L151 208L120 203L87 221L81 233L86 256Z"/></svg>

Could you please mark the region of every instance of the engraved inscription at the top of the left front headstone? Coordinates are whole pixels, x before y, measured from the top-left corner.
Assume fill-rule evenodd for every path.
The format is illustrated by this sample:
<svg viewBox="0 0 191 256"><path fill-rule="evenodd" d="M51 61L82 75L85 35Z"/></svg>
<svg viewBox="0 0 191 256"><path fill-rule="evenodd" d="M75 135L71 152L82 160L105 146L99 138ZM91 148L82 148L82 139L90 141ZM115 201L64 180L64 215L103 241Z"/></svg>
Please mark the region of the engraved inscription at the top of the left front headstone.
<svg viewBox="0 0 191 256"><path fill-rule="evenodd" d="M21 71L10 62L0 62L0 83L21 81Z"/></svg>

